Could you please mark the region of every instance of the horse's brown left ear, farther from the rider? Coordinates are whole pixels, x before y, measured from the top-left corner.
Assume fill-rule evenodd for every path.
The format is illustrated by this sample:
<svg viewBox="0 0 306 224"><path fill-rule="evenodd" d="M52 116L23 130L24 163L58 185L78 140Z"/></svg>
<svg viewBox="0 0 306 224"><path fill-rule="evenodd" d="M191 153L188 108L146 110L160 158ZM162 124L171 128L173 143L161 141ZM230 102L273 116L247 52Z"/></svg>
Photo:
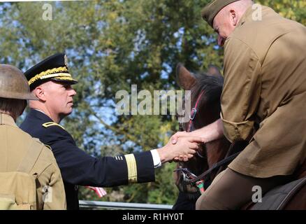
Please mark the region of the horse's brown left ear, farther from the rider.
<svg viewBox="0 0 306 224"><path fill-rule="evenodd" d="M196 78L180 63L176 66L176 80L184 90L191 90L196 83Z"/></svg>

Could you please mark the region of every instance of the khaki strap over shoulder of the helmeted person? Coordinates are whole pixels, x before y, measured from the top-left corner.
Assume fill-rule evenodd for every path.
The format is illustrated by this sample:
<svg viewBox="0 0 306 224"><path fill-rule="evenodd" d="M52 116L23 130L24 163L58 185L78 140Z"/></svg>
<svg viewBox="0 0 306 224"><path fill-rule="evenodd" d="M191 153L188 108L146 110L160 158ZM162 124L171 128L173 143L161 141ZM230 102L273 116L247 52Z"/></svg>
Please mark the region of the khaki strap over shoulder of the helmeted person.
<svg viewBox="0 0 306 224"><path fill-rule="evenodd" d="M17 168L17 172L24 172L29 174L31 169L33 169L39 155L41 155L41 151L43 150L44 146L45 145L38 141L38 139L34 138L31 147Z"/></svg>

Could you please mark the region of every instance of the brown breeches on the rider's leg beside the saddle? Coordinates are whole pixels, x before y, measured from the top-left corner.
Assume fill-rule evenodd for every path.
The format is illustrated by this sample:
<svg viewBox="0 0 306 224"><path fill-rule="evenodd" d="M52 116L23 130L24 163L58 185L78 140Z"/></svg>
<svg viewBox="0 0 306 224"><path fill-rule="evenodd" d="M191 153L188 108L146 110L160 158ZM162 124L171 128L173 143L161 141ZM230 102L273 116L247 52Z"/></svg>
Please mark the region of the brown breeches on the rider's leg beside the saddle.
<svg viewBox="0 0 306 224"><path fill-rule="evenodd" d="M240 209L248 202L258 202L260 193L286 183L289 176L254 178L227 168L221 172L196 202L196 209Z"/></svg>

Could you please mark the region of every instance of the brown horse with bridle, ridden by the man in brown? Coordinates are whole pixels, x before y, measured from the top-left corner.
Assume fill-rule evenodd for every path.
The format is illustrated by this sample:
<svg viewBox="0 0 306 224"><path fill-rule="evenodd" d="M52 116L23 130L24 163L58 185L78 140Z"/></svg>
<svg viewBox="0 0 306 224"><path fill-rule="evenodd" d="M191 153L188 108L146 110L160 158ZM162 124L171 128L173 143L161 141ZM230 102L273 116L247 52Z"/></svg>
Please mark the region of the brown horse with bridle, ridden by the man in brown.
<svg viewBox="0 0 306 224"><path fill-rule="evenodd" d="M180 131L193 131L201 127L213 123L219 119L221 104L220 97L223 87L223 76L214 66L210 66L207 73L192 74L182 64L177 65L177 83L184 90L191 90L191 119L187 123L180 124ZM196 113L194 113L196 111ZM238 151L242 151L247 146L247 142L238 142L231 144L225 137L212 141L208 144L203 144L198 151L198 155L189 160L189 162L178 163L178 171L174 173L174 179L177 187L180 190L180 195L177 198L177 202L173 206L173 209L195 209L195 203L198 197L201 195L195 184L189 184L186 181L187 176L199 176L207 169L211 169L217 162L228 158L229 155L233 155ZM210 183L219 172L226 169L227 165L231 161L227 161L223 165L216 167L209 174L205 176L204 188L210 186ZM187 170L187 171L186 171ZM191 173L189 173L191 172ZM304 165L299 167L297 172L293 175L294 179L300 179L306 176L306 161ZM191 177L192 178L192 177ZM287 187L286 189L289 189ZM291 188L290 188L291 189ZM294 187L295 191L289 190L288 197L282 201L281 209L306 209L306 180L303 183L299 183ZM276 189L276 193L278 191ZM273 190L271 191L272 193ZM269 195L267 193L266 195ZM284 195L284 194L283 194ZM269 196L266 196L268 198ZM272 196L273 197L273 196ZM263 197L264 201L265 197ZM284 203L286 202L286 203ZM249 203L242 209L252 209L254 204ZM261 209L265 207L256 207ZM271 209L271 207L268 207Z"/></svg>

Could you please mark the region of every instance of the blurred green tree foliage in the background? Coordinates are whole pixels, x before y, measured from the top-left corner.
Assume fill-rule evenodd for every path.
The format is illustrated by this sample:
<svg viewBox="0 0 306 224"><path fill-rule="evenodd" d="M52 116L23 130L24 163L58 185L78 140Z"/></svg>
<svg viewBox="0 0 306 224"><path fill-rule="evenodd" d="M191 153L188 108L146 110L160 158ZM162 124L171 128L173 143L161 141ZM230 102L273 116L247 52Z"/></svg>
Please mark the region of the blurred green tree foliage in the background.
<svg viewBox="0 0 306 224"><path fill-rule="evenodd" d="M222 67L223 50L201 19L208 0L101 0L2 3L0 62L23 71L55 52L66 52L75 85L75 110L64 120L78 146L96 156L147 151L177 131L174 116L118 116L118 90L175 90L175 66L191 71ZM306 24L306 2L261 0L281 15ZM156 182L108 189L104 200L173 204L174 164L156 171ZM83 189L81 198L96 199Z"/></svg>

